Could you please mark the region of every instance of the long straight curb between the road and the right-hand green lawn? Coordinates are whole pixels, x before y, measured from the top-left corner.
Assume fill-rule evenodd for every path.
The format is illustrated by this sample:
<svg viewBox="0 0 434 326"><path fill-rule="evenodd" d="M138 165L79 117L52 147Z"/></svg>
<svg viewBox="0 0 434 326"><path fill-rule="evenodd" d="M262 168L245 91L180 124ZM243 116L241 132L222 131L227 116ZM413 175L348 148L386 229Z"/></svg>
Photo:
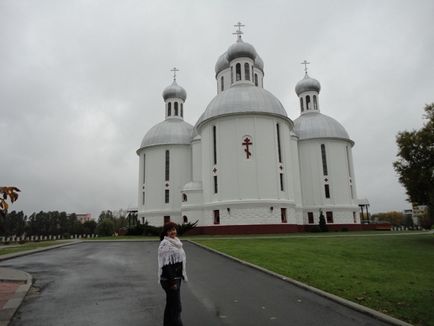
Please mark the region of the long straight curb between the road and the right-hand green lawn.
<svg viewBox="0 0 434 326"><path fill-rule="evenodd" d="M199 243L194 242L193 240L185 240L185 241L187 241L187 242L189 242L189 243L192 243L192 244L194 244L194 245L196 245L196 246L198 246L198 247L200 247L200 248L202 248L202 249L208 250L208 251L210 251L210 252L212 252L212 253L215 253L215 254L218 254L218 255L220 255L220 256L226 257L226 258L231 259L231 260L233 260L233 261L236 261L236 262L238 262L238 263L240 263L240 264L243 264L243 265L248 266L248 267L250 267L250 268L253 268L253 269L259 270L259 271L261 271L261 272L263 272L263 273L266 273L266 274L268 274L268 275L271 275L271 276L273 276L273 277L276 277L276 278L278 278L278 279L280 279L280 280L282 280L282 281L285 281L285 282L291 283L291 284L293 284L293 285L295 285L295 286L298 286L299 288L302 288L302 289L304 289L304 290L307 290L307 291L310 291L310 292L316 293L316 294L318 294L318 295L320 295L320 296L322 296L322 297L325 297L325 298L328 298L328 299L330 299L330 300L333 300L333 301L335 301L335 302L337 302L337 303L340 303L340 304L342 304L342 305L344 305L344 306L346 306L346 307L349 307L349 308L351 308L351 309L353 309L353 310L359 311L359 312L364 313L364 314L366 314L366 315L372 316L372 317L374 317L374 318L376 318L376 319L378 319L378 320L381 320L381 321L383 321L383 322L389 323L389 324L391 324L391 325L396 325L396 326L413 326L412 324L406 323L405 321L399 320L399 319L394 318L394 317L392 317L392 316L389 316L389 315L383 314L383 313L381 313L381 312L379 312L379 311L376 311L376 310L374 310L374 309L371 309L371 308L368 308L368 307L362 306L362 305L360 305L360 304L358 304L358 303L355 303L355 302L353 302L353 301L350 301L350 300L347 300L347 299L344 299L344 298L338 297L337 295L334 295L334 294L328 293L328 292L326 292L326 291L323 291L323 290L317 289L317 288L315 288L315 287L313 287L313 286L310 286L310 285L307 285L307 284L301 283L301 282L299 282L299 281L297 281L297 280L294 280L294 279L292 279L292 278L290 278L290 277L283 276L283 275L281 275L281 274L278 274L278 273L272 272L272 271L270 271L270 270L268 270L268 269L265 269L265 268L263 268L263 267L260 267L260 266L258 266L258 265L255 265L255 264L252 264L252 263L246 262L246 261L241 260L241 259L239 259L239 258L236 258L236 257L230 256L230 255L228 255L228 254L222 253L222 252L217 251L217 250L215 250L215 249L212 249L212 248L206 247L206 246L204 246L204 245L201 245L201 244L199 244Z"/></svg>

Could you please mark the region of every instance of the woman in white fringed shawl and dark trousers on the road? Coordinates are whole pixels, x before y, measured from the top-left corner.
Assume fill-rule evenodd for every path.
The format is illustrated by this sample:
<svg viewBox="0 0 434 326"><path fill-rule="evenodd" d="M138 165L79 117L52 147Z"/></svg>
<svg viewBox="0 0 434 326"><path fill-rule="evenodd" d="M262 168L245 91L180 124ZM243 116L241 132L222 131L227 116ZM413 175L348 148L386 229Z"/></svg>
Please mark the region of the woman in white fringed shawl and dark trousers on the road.
<svg viewBox="0 0 434 326"><path fill-rule="evenodd" d="M176 237L176 224L163 227L158 247L158 278L166 292L164 326L182 326L181 279L187 281L186 257L182 242Z"/></svg>

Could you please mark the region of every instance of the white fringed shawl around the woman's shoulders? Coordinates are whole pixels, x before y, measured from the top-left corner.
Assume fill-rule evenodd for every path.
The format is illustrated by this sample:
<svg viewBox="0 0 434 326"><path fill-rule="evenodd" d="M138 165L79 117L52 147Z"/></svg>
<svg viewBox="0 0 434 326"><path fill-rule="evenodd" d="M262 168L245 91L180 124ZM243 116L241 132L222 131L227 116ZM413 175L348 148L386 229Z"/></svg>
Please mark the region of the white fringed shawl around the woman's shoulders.
<svg viewBox="0 0 434 326"><path fill-rule="evenodd" d="M158 247L158 282L160 282L163 266L182 262L182 276L187 281L186 256L182 242L178 238L164 237Z"/></svg>

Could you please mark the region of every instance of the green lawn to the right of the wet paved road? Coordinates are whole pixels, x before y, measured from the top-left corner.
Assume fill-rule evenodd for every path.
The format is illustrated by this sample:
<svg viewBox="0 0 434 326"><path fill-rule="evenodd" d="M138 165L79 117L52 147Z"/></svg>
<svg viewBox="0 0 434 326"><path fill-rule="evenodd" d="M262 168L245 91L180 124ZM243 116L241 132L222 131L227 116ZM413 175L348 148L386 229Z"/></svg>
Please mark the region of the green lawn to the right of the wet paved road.
<svg viewBox="0 0 434 326"><path fill-rule="evenodd" d="M195 241L411 324L434 325L433 234Z"/></svg>

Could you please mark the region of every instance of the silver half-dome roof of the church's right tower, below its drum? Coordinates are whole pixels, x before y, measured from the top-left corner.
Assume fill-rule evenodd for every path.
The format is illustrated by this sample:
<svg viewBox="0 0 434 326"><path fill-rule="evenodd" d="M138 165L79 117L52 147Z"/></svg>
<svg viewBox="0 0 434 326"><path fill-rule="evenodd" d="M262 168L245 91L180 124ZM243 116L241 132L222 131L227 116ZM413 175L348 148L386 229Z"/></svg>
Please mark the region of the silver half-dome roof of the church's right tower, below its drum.
<svg viewBox="0 0 434 326"><path fill-rule="evenodd" d="M339 122L320 112L308 112L299 116L294 120L294 131L300 140L335 138L354 144Z"/></svg>

